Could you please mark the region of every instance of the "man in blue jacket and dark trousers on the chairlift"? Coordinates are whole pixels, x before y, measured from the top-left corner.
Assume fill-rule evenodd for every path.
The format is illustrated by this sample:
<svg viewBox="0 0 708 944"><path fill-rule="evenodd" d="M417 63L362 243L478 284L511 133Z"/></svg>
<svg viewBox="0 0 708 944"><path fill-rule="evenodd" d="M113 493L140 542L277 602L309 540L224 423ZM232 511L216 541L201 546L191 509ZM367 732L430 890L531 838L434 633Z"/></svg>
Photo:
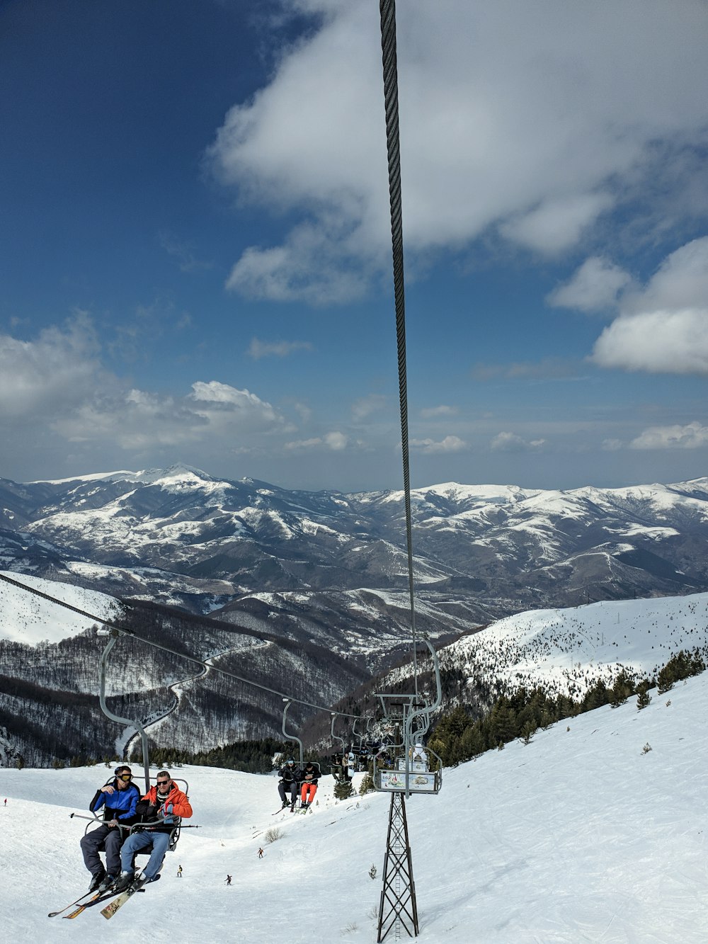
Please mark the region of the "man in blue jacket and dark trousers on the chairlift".
<svg viewBox="0 0 708 944"><path fill-rule="evenodd" d="M89 891L105 891L121 873L120 850L127 835L119 824L130 826L135 822L135 807L140 791L133 784L130 767L121 765L114 770L115 779L96 790L89 809L97 813L103 807L103 825L84 835L81 851L86 868L91 872ZM106 868L99 851L106 851Z"/></svg>

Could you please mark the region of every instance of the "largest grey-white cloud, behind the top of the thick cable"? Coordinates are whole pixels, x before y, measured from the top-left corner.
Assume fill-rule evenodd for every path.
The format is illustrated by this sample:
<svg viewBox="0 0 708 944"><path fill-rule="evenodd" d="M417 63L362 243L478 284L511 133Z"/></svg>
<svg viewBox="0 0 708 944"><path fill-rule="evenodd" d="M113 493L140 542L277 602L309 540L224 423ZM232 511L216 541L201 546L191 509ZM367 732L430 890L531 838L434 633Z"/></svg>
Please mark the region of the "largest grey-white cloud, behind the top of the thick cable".
<svg viewBox="0 0 708 944"><path fill-rule="evenodd" d="M207 160L239 201L295 224L278 244L247 246L228 286L345 301L388 265L378 10L291 7L316 25L229 110ZM688 208L700 162L679 159L705 143L704 36L694 3L646 0L637 18L626 0L411 0L397 52L413 258L490 231L561 252L647 180ZM657 160L663 149L672 160Z"/></svg>

